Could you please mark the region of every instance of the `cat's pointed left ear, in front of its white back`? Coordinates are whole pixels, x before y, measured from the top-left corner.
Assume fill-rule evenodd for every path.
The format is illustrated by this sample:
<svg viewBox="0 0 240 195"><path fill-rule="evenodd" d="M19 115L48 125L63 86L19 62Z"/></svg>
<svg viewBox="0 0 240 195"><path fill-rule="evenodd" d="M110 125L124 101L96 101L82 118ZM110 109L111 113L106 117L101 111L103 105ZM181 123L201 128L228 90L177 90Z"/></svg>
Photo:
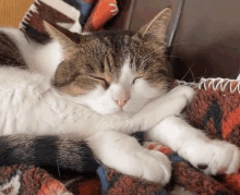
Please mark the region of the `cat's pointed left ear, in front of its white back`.
<svg viewBox="0 0 240 195"><path fill-rule="evenodd" d="M68 60L70 56L76 51L76 45L48 22L44 21L43 23L49 36L60 42L60 46L63 50L64 60Z"/></svg>

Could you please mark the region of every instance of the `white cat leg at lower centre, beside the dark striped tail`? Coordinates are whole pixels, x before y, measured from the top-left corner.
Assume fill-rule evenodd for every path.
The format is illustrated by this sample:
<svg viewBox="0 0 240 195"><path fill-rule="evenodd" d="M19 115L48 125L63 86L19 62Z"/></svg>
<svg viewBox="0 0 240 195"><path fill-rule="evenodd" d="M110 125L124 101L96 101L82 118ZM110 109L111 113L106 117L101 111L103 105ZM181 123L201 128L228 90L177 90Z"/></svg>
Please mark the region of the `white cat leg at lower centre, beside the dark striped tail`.
<svg viewBox="0 0 240 195"><path fill-rule="evenodd" d="M142 147L134 137L107 131L91 136L87 143L104 164L121 173L163 185L169 182L171 166L168 158Z"/></svg>

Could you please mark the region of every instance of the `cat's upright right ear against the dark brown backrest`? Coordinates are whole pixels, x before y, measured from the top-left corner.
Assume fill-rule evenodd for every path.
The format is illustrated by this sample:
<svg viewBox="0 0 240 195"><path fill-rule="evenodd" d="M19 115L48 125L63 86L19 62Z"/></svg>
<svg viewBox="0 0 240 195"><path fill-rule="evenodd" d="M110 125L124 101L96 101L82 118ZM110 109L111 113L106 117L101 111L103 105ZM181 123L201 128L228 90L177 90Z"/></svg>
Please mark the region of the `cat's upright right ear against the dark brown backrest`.
<svg viewBox="0 0 240 195"><path fill-rule="evenodd" d="M155 36L163 37L166 34L168 23L171 17L171 8L166 8L160 11L149 23L144 25L140 31L143 37L146 34L154 34Z"/></svg>

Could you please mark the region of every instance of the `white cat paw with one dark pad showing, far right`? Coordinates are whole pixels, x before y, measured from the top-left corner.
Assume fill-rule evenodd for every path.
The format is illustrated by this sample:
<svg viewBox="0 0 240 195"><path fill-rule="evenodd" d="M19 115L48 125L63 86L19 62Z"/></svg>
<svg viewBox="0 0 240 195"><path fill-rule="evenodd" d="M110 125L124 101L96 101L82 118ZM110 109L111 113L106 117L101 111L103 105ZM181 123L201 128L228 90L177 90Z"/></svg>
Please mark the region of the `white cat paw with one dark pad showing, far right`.
<svg viewBox="0 0 240 195"><path fill-rule="evenodd" d="M231 174L240 168L240 150L224 141L191 143L179 155L206 174Z"/></svg>

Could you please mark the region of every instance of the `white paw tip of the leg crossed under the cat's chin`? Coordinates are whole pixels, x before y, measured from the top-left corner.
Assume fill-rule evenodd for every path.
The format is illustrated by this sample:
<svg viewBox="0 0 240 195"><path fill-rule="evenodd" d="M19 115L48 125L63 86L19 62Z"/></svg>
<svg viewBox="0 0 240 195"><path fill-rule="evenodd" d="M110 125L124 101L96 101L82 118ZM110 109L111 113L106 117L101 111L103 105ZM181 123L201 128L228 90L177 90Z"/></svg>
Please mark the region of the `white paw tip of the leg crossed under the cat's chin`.
<svg viewBox="0 0 240 195"><path fill-rule="evenodd" d="M192 87L179 85L179 86L175 87L172 90L170 90L170 94L173 95L175 97L184 96L188 103L190 103L192 101L195 93Z"/></svg>

